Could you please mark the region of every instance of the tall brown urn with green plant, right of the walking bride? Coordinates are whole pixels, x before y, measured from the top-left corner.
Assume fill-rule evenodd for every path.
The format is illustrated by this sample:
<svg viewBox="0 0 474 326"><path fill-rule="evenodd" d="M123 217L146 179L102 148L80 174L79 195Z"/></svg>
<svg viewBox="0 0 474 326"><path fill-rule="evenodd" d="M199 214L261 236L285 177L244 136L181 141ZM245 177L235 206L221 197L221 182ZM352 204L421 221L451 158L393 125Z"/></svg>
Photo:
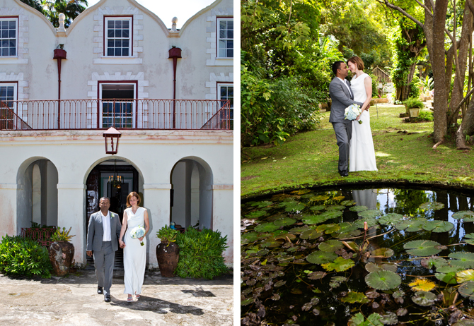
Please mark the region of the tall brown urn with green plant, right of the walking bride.
<svg viewBox="0 0 474 326"><path fill-rule="evenodd" d="M173 277L178 266L180 248L175 242L179 232L166 224L156 232L156 236L161 240L161 243L156 246L156 260L163 277Z"/></svg>

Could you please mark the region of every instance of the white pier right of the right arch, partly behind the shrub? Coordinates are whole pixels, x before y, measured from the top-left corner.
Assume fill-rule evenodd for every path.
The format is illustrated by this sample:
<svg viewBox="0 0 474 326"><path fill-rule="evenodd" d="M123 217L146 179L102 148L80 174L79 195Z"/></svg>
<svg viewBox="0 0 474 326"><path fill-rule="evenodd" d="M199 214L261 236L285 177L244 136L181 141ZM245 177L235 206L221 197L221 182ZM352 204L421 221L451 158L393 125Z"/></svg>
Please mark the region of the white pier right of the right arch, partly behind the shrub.
<svg viewBox="0 0 474 326"><path fill-rule="evenodd" d="M226 263L233 263L233 185L212 185L212 230L227 236Z"/></svg>

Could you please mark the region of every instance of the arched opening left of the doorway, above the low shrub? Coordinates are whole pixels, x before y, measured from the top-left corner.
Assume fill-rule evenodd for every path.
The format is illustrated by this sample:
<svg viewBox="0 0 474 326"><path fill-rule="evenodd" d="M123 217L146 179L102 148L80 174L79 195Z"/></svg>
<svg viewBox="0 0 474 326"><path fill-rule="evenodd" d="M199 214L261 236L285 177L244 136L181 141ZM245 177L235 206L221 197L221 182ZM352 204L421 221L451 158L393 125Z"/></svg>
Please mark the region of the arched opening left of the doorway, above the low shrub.
<svg viewBox="0 0 474 326"><path fill-rule="evenodd" d="M57 227L58 173L44 157L32 157L18 169L16 226L17 234L32 225Z"/></svg>

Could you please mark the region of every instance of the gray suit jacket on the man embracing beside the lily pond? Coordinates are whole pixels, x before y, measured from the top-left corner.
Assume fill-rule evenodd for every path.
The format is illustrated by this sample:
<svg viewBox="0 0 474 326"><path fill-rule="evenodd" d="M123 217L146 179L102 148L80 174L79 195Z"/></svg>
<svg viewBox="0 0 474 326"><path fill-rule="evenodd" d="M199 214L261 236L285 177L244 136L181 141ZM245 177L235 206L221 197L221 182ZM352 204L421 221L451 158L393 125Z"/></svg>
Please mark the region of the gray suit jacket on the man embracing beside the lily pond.
<svg viewBox="0 0 474 326"><path fill-rule="evenodd" d="M345 79L345 83L350 87L349 80ZM331 104L331 114L329 116L329 122L344 122L349 123L352 121L344 119L344 110L351 104L359 104L362 107L361 102L355 102L354 97L351 95L347 87L342 85L339 78L335 77L329 84L329 96L333 101Z"/></svg>

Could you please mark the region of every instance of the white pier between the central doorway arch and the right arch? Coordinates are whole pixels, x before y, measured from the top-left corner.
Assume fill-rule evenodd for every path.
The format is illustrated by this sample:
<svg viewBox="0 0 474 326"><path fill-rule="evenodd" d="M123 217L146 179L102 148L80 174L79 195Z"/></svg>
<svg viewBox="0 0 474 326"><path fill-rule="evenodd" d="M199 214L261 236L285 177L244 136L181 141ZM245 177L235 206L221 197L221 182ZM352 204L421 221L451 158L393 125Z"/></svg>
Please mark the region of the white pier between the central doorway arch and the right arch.
<svg viewBox="0 0 474 326"><path fill-rule="evenodd" d="M150 222L149 234L146 235L146 255L147 266L149 268L158 268L156 260L156 246L160 239L156 237L161 227L170 224L170 183L145 183L144 198L146 198L146 210Z"/></svg>

